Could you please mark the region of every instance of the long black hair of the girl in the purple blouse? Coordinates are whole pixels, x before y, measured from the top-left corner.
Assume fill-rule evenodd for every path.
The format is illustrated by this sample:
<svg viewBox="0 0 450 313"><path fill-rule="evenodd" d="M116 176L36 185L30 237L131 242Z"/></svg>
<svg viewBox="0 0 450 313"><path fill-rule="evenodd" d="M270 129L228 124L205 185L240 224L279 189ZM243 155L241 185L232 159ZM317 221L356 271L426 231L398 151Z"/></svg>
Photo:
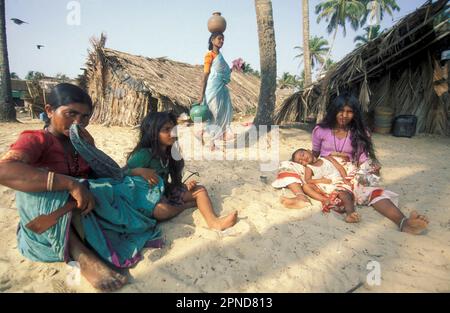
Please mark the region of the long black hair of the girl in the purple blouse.
<svg viewBox="0 0 450 313"><path fill-rule="evenodd" d="M372 139L370 138L369 129L366 126L362 114L361 105L358 99L349 92L343 92L337 96L334 101L328 106L327 114L319 126L322 128L334 129L336 127L336 116L344 109L345 106L349 106L353 111L353 119L349 124L351 131L352 142L352 161L359 161L361 153L365 152L373 160L378 161L375 156L375 149L373 147Z"/></svg>

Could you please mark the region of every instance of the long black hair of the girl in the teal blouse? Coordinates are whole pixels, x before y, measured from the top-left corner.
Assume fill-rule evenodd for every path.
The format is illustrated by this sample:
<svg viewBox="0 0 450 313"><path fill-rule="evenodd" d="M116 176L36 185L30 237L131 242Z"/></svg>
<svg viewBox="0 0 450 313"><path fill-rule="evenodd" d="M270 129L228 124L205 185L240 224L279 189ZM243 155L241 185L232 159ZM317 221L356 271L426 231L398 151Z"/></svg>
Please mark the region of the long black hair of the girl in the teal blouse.
<svg viewBox="0 0 450 313"><path fill-rule="evenodd" d="M177 125L175 114L171 112L151 112L147 114L140 126L138 143L130 152L127 159L141 149L150 149L152 157L161 158L164 161L169 160L171 185L179 186L182 184L184 160L181 157L178 146L170 146L163 151L159 143L159 133L168 122L173 123L174 126Z"/></svg>

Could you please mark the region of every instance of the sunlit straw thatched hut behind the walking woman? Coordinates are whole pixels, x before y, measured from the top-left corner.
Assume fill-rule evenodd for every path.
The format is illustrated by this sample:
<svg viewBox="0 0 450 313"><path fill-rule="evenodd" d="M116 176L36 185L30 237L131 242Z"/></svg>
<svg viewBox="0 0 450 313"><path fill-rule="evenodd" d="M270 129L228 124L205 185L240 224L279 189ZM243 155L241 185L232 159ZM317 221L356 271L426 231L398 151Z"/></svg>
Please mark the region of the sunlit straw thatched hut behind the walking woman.
<svg viewBox="0 0 450 313"><path fill-rule="evenodd" d="M91 95L91 121L134 126L150 111L187 112L199 98L203 68L169 60L147 58L105 48L106 38L92 40L81 85ZM256 110L260 80L232 72L228 84L235 112Z"/></svg>

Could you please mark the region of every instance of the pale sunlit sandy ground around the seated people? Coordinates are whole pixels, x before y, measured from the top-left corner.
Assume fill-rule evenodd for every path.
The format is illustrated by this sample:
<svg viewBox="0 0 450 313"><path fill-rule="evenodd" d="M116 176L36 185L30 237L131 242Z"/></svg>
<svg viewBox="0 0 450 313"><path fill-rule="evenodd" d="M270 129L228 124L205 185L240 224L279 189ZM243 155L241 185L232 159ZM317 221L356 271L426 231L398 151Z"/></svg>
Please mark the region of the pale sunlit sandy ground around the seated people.
<svg viewBox="0 0 450 313"><path fill-rule="evenodd" d="M39 128L37 121L0 124L0 154L22 130ZM124 164L136 130L88 130L99 148ZM191 209L163 223L166 246L144 252L121 292L345 292L366 281L370 261L381 266L381 285L365 283L356 292L450 291L450 137L373 138L384 183L400 194L402 210L429 216L425 235L398 232L370 207L359 209L357 225L323 215L317 202L285 209L281 192L270 186L276 171L261 172L260 162L245 152L237 153L242 160L189 160L187 169L200 173L216 211L238 210L239 222L229 231L211 231ZM297 147L310 147L310 133L281 129L280 160ZM0 186L1 292L95 291L84 279L78 284L76 271L64 263L34 263L20 255L17 223L14 192Z"/></svg>

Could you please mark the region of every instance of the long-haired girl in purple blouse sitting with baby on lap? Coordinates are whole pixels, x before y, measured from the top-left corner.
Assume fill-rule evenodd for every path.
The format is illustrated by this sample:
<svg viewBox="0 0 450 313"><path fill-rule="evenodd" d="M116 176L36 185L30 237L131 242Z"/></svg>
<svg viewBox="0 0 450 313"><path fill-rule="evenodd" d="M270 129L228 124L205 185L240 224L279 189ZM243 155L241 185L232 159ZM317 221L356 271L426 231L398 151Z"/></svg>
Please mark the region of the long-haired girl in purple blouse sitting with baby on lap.
<svg viewBox="0 0 450 313"><path fill-rule="evenodd" d="M341 157L357 167L369 161L378 172L380 166L370 132L363 122L359 108L358 100L351 94L342 93L336 97L328 107L323 121L313 130L313 154L316 157ZM380 200L372 201L370 205L398 225L400 231L419 234L428 225L427 218L415 211L406 218L389 198L380 197Z"/></svg>

